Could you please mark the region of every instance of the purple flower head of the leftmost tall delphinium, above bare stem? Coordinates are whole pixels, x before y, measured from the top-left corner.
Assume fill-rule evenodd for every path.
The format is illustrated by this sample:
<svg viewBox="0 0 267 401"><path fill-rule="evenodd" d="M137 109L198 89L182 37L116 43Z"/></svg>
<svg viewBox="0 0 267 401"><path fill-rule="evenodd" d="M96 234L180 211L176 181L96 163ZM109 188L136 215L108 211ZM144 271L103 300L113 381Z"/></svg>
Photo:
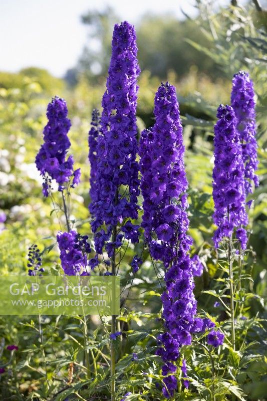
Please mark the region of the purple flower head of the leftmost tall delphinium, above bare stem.
<svg viewBox="0 0 267 401"><path fill-rule="evenodd" d="M48 124L44 129L44 144L36 156L36 166L44 177L43 194L49 195L51 178L59 184L59 191L66 183L74 186L80 182L80 168L73 170L74 159L66 153L71 145L68 131L71 126L67 118L68 109L64 99L55 97L47 108Z"/></svg>

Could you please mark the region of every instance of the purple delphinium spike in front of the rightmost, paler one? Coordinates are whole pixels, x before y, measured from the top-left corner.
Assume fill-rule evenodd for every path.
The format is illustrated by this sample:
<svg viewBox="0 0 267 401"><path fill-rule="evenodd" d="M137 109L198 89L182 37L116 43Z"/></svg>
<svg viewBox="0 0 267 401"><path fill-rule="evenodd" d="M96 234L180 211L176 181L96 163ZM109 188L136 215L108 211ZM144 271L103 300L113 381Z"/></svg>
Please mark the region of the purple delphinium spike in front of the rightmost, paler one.
<svg viewBox="0 0 267 401"><path fill-rule="evenodd" d="M232 235L236 229L236 238L245 249L247 225L245 211L244 164L242 149L236 130L236 118L231 106L220 105L217 111L218 121L214 126L214 168L213 199L215 212L214 244L224 237Z"/></svg>

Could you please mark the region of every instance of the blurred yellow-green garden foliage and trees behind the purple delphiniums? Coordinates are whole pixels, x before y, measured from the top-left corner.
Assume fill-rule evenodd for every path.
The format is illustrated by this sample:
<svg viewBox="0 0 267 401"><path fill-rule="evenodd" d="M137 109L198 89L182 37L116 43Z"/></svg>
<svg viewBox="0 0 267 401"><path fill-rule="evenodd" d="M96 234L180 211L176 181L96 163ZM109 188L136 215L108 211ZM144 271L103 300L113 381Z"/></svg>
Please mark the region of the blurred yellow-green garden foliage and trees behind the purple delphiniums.
<svg viewBox="0 0 267 401"><path fill-rule="evenodd" d="M196 7L198 16L193 20L188 16L185 16L183 21L178 21L171 15L146 15L137 24L138 58L142 70L139 78L137 116L139 131L152 125L154 93L160 81L169 80L176 86L186 146L190 234L194 239L192 253L198 253L205 266L203 276L196 278L195 292L199 310L203 308L211 315L217 316L219 312L213 307L214 298L201 294L202 290L209 290L217 285L214 281L217 277L217 266L214 262L216 257L211 242L214 230L211 196L213 125L218 105L230 102L231 78L240 69L249 72L257 97L260 186L254 192L255 200L249 212L251 252L248 255L247 269L251 269L254 280L252 288L249 289L261 297L266 297L267 136L264 113L267 95L264 82L267 23L266 12L257 2L248 2L245 7L241 7L232 1L229 6L218 10L213 9L210 2L197 0ZM7 221L0 227L0 230L3 229L0 233L1 274L27 274L26 255L32 243L37 243L41 250L50 251L45 254L45 268L48 271L59 263L58 251L53 247L55 235L60 228L58 217L56 213L51 214L51 210L54 209L51 200L42 197L42 181L34 164L35 155L42 143L46 107L54 95L64 97L68 103L69 117L72 121L71 152L75 157L76 168L82 169L82 182L72 192L72 217L82 234L90 232L87 133L90 129L92 109L101 106L112 29L116 22L118 18L110 8L101 13L82 16L82 23L86 24L89 30L89 45L84 49L77 66L68 70L64 79L55 78L46 70L35 67L23 69L17 74L0 72L0 211L7 214ZM93 42L94 46L90 47ZM60 212L59 219L64 224ZM129 260L125 261L125 272L129 270L127 262L135 253L138 253L138 249L130 250ZM146 255L144 259L145 257ZM159 284L153 282L153 275L151 265L145 261L142 273L137 274L134 282L136 286L128 299L128 307L132 311L141 310L145 306L146 312L158 312ZM122 283L123 280L122 277ZM151 291L152 288L154 292ZM251 298L246 316L249 319L255 314L266 317L262 303L257 298ZM142 326L146 319L142 322L137 315L132 313L127 324L132 320L133 325ZM54 320L53 318L45 323L48 331L52 330ZM53 338L56 342L62 341L61 346L65 350L74 346L64 329L71 323L69 320L66 317L61 318L61 328L55 328L48 334L48 338ZM29 323L29 318L0 317L0 336L5 337L7 342L20 341L21 349L27 350L32 334L29 334L27 329L24 336L19 337L18 322L22 321L24 324ZM92 331L95 327L92 322ZM253 339L260 337L259 333L250 334ZM132 341L135 342L135 339ZM140 338L140 341L141 347L144 346L145 340ZM37 369L42 355L36 349L31 352L31 363ZM53 347L49 348L48 352L51 360L59 358L62 354L60 349L55 351ZM79 354L75 357L79 359ZM29 381L31 375L35 377L38 386L39 373L37 369L30 374L29 369L24 368L27 364L23 365L23 361L22 355L19 357L19 367L15 369L15 376L10 379L10 386L17 388L19 393L29 395L33 391ZM67 375L66 365L67 362L62 364L62 377ZM262 365L255 368L260 372L264 367ZM251 373L249 379L243 379L241 384L249 399L264 399L265 382L262 384L260 381L261 373L258 373L260 377L253 374ZM251 378L258 382L257 389L253 387ZM5 391L3 399L10 394L7 389ZM29 399L34 398L30 398L29 395Z"/></svg>

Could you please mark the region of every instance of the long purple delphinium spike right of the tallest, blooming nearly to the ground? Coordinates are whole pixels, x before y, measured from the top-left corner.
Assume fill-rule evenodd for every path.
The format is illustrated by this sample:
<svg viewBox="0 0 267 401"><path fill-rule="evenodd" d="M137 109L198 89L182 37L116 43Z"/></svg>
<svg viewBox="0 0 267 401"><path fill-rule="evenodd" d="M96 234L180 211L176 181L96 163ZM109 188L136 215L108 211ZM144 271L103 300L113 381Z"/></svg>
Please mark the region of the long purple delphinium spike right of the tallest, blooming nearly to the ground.
<svg viewBox="0 0 267 401"><path fill-rule="evenodd" d="M164 362L162 373L166 375L176 371L179 348L191 343L191 333L200 331L203 323L194 317L182 126L175 88L168 82L161 84L156 93L154 115L155 125L142 132L140 141L142 227L152 258L161 260L166 269L166 291L162 294L165 333L158 338L158 354ZM185 364L183 370L186 372ZM171 374L164 378L164 383L173 395L176 377ZM184 385L188 385L187 380ZM165 388L163 394L169 395Z"/></svg>

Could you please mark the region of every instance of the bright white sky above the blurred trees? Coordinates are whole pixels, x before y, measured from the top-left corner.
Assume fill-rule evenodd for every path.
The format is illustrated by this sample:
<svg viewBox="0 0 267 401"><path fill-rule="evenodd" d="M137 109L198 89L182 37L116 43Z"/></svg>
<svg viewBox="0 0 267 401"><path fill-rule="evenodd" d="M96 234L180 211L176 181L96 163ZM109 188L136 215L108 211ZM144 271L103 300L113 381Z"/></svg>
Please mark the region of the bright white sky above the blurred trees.
<svg viewBox="0 0 267 401"><path fill-rule="evenodd" d="M135 23L151 11L182 18L182 8L193 16L192 4L194 0L0 0L0 71L35 66L63 76L88 41L87 28L80 22L88 10L110 5L121 20Z"/></svg>

